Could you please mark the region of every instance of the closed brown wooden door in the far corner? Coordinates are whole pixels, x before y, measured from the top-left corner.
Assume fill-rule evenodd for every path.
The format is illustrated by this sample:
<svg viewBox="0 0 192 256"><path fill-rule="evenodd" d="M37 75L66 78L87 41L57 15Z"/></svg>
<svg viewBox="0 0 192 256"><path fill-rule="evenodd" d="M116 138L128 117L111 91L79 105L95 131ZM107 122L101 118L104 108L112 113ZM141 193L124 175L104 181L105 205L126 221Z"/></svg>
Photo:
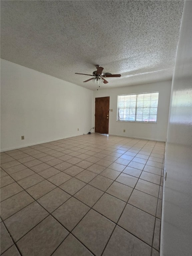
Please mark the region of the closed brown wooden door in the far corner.
<svg viewBox="0 0 192 256"><path fill-rule="evenodd" d="M95 98L95 132L109 133L109 97Z"/></svg>

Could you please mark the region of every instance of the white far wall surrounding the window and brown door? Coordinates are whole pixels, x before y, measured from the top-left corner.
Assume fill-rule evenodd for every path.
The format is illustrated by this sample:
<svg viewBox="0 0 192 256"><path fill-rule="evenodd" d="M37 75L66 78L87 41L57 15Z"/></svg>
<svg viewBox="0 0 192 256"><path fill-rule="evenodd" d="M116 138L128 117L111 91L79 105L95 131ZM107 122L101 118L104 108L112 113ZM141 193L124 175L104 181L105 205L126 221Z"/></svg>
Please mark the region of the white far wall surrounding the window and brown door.
<svg viewBox="0 0 192 256"><path fill-rule="evenodd" d="M121 94L145 92L159 92L157 123L117 121L117 96ZM113 89L100 89L94 91L94 98L110 96L110 109L113 109L113 112L109 112L109 134L165 141L167 135L170 94L171 81L165 81ZM124 129L125 132L123 132Z"/></svg>

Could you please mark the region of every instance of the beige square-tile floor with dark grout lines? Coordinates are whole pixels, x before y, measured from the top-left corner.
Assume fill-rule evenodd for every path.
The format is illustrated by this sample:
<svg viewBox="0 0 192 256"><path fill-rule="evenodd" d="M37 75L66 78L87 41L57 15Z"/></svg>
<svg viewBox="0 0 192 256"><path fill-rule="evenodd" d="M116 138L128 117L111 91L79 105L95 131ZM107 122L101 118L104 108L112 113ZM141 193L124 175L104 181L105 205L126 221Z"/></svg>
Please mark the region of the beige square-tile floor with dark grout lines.
<svg viewBox="0 0 192 256"><path fill-rule="evenodd" d="M164 149L92 133L1 153L1 255L158 256Z"/></svg>

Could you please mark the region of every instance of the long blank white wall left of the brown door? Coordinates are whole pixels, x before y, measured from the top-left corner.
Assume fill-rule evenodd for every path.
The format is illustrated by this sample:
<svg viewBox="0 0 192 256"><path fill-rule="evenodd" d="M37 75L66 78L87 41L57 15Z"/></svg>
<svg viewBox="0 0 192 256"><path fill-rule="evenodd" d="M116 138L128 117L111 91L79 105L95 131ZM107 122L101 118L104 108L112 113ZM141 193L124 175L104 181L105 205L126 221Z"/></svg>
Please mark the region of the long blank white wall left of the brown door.
<svg viewBox="0 0 192 256"><path fill-rule="evenodd" d="M92 102L91 90L1 60L1 151L87 133Z"/></svg>

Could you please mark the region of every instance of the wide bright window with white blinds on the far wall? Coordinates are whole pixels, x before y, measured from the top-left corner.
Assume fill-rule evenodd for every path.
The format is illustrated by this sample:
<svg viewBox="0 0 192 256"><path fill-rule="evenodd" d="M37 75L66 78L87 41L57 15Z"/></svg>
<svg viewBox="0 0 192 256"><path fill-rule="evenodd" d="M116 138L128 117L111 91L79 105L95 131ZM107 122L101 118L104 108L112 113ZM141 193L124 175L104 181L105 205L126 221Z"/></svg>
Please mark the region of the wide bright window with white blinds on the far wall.
<svg viewBox="0 0 192 256"><path fill-rule="evenodd" d="M117 121L157 122L159 92L118 95Z"/></svg>

